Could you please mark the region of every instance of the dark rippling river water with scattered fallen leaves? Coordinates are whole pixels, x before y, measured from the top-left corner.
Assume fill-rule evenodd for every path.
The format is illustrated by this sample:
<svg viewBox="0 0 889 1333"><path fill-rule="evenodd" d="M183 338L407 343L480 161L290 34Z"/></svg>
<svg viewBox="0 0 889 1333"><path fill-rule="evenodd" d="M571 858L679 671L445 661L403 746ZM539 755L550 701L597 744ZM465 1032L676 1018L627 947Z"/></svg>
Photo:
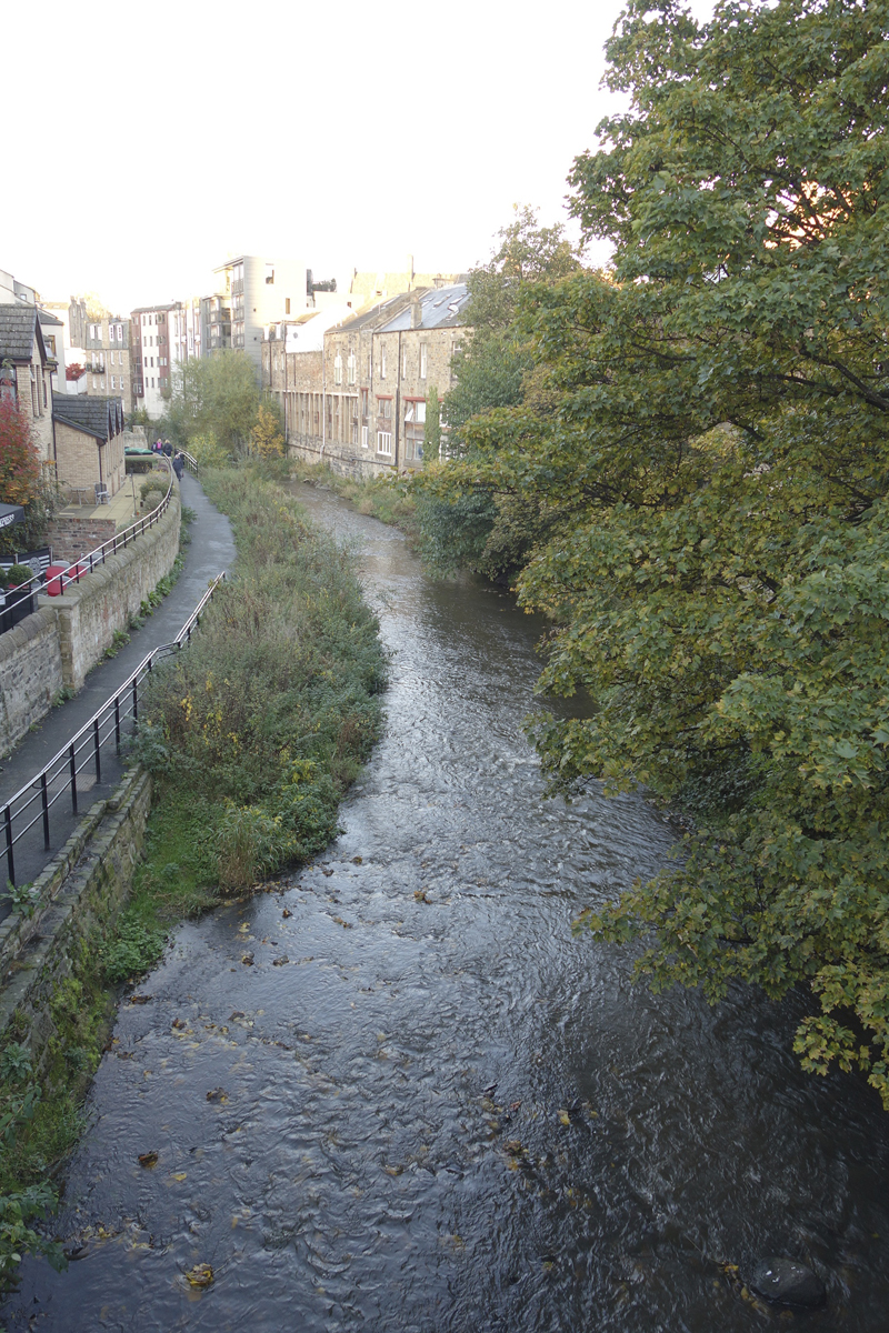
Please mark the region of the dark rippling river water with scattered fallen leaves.
<svg viewBox="0 0 889 1333"><path fill-rule="evenodd" d="M301 497L361 543L384 738L340 840L184 925L124 1004L59 1218L76 1257L25 1261L8 1326L886 1329L876 1096L802 1074L801 1001L652 996L572 938L673 832L638 797L544 798L521 733L538 623ZM774 1253L817 1269L825 1309L757 1309L721 1266Z"/></svg>

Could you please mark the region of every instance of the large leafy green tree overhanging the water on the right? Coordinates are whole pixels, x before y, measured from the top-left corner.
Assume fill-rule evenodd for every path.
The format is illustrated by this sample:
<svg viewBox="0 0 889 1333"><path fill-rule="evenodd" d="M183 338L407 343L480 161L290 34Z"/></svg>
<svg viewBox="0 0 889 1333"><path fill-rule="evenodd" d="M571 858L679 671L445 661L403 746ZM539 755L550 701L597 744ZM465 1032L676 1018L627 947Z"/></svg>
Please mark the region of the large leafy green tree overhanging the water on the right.
<svg viewBox="0 0 889 1333"><path fill-rule="evenodd" d="M804 1064L889 1106L888 36L886 0L632 0L570 177L613 268L533 293L549 411L431 481L558 515L520 595L596 706L540 721L553 778L698 812L586 924L658 986L808 984Z"/></svg>

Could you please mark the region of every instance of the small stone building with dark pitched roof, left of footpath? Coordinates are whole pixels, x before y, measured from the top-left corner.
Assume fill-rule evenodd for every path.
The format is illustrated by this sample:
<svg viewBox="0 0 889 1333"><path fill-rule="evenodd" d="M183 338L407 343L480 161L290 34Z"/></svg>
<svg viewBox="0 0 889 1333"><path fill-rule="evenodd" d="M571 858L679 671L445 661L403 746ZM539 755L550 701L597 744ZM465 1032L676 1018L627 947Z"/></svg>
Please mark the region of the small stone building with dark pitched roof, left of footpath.
<svg viewBox="0 0 889 1333"><path fill-rule="evenodd" d="M56 476L72 499L116 495L124 484L124 404L120 397L53 393Z"/></svg>

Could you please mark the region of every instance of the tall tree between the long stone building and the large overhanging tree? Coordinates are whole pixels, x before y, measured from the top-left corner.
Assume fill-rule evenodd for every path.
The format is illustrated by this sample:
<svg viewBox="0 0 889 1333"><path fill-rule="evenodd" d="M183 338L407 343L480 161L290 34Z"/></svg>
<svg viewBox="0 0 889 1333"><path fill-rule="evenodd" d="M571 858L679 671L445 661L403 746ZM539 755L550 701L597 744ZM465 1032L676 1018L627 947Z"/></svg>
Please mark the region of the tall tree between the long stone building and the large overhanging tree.
<svg viewBox="0 0 889 1333"><path fill-rule="evenodd" d="M514 205L514 220L497 233L500 244L486 264L469 275L466 321L472 332L453 357L456 385L439 405L449 456L468 444L464 425L492 408L512 407L525 397L533 356L516 316L525 287L556 283L578 261L561 224L538 227L534 209ZM428 409L427 409L428 411ZM444 436L435 424L435 463ZM448 572L458 567L508 580L545 529L536 503L521 503L441 488L437 477L416 483L417 520L427 567Z"/></svg>

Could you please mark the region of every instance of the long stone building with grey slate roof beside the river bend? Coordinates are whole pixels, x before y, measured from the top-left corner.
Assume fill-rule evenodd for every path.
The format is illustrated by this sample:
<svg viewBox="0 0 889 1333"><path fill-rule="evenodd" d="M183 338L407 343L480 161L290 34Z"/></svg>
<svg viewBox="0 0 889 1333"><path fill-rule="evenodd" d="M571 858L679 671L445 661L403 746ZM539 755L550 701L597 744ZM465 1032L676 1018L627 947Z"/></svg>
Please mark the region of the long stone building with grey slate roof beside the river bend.
<svg viewBox="0 0 889 1333"><path fill-rule="evenodd" d="M401 292L328 328L323 352L267 340L263 385L289 452L356 476L420 467L429 392L452 385L466 300L465 283Z"/></svg>

